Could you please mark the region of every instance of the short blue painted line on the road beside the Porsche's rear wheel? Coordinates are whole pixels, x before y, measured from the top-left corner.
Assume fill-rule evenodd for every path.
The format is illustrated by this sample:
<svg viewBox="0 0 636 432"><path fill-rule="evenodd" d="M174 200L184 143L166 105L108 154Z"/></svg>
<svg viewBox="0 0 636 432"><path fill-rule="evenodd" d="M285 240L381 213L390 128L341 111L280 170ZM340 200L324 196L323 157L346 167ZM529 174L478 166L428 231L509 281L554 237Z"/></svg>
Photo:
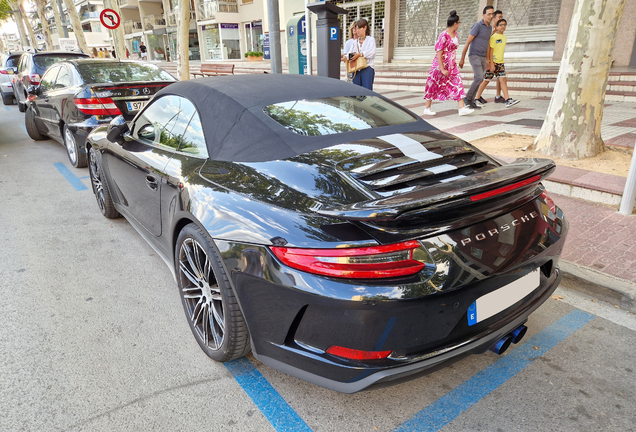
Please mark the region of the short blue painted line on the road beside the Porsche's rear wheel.
<svg viewBox="0 0 636 432"><path fill-rule="evenodd" d="M311 431L292 407L245 357L224 363L236 382L277 431Z"/></svg>

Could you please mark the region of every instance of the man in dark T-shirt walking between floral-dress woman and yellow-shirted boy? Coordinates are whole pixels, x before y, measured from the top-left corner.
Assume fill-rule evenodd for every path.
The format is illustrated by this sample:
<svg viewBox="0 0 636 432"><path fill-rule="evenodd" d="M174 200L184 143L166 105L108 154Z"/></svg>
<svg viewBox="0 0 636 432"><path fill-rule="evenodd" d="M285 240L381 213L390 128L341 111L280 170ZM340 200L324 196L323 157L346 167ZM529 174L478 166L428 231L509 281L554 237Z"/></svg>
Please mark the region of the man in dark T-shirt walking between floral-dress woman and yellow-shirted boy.
<svg viewBox="0 0 636 432"><path fill-rule="evenodd" d="M481 107L475 103L475 96L479 85L484 80L484 72L488 66L488 41L492 35L492 27L490 22L492 21L492 15L495 8L492 6L486 6L484 8L483 19L473 25L470 30L470 35L464 45L464 51L462 52L462 58L459 61L459 68L464 68L464 59L466 58L466 52L470 47L468 54L468 61L473 68L475 79L470 85L466 97L464 98L464 104L472 109L480 109Z"/></svg>

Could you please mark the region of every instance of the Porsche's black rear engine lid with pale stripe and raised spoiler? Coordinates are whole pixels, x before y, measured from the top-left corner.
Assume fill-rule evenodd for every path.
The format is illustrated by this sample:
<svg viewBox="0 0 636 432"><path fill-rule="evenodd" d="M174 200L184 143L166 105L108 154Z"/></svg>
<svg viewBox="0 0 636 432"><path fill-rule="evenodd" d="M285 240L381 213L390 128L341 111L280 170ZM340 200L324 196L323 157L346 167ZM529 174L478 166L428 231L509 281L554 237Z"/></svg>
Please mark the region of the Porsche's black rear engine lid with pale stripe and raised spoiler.
<svg viewBox="0 0 636 432"><path fill-rule="evenodd" d="M270 162L208 161L200 174L289 210L382 221L420 218L421 209L447 212L449 206L475 206L471 196L527 179L534 178L527 188L536 189L554 168L548 159L501 165L452 135L423 131L381 135Z"/></svg>

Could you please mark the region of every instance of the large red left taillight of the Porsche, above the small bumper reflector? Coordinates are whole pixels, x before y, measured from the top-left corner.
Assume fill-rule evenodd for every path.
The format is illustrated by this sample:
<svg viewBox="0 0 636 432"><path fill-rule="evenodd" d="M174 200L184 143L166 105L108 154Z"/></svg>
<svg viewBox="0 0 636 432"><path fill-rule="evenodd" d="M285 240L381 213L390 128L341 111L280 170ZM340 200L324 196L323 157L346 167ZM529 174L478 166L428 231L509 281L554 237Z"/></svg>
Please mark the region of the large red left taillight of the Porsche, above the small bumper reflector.
<svg viewBox="0 0 636 432"><path fill-rule="evenodd" d="M300 249L271 246L283 264L309 273L355 279L413 275L434 265L417 240L390 245L340 249Z"/></svg>

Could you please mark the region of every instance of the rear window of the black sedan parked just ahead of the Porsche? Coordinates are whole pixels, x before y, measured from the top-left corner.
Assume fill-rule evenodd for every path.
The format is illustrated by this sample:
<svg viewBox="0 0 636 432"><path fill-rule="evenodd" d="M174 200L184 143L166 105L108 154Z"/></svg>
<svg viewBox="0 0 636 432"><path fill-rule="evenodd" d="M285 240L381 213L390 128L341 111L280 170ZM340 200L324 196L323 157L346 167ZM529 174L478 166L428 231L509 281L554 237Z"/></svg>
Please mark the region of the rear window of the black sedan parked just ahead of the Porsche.
<svg viewBox="0 0 636 432"><path fill-rule="evenodd" d="M77 66L82 79L87 84L119 83L131 81L174 81L174 77L163 69L151 64L138 63L82 63Z"/></svg>

